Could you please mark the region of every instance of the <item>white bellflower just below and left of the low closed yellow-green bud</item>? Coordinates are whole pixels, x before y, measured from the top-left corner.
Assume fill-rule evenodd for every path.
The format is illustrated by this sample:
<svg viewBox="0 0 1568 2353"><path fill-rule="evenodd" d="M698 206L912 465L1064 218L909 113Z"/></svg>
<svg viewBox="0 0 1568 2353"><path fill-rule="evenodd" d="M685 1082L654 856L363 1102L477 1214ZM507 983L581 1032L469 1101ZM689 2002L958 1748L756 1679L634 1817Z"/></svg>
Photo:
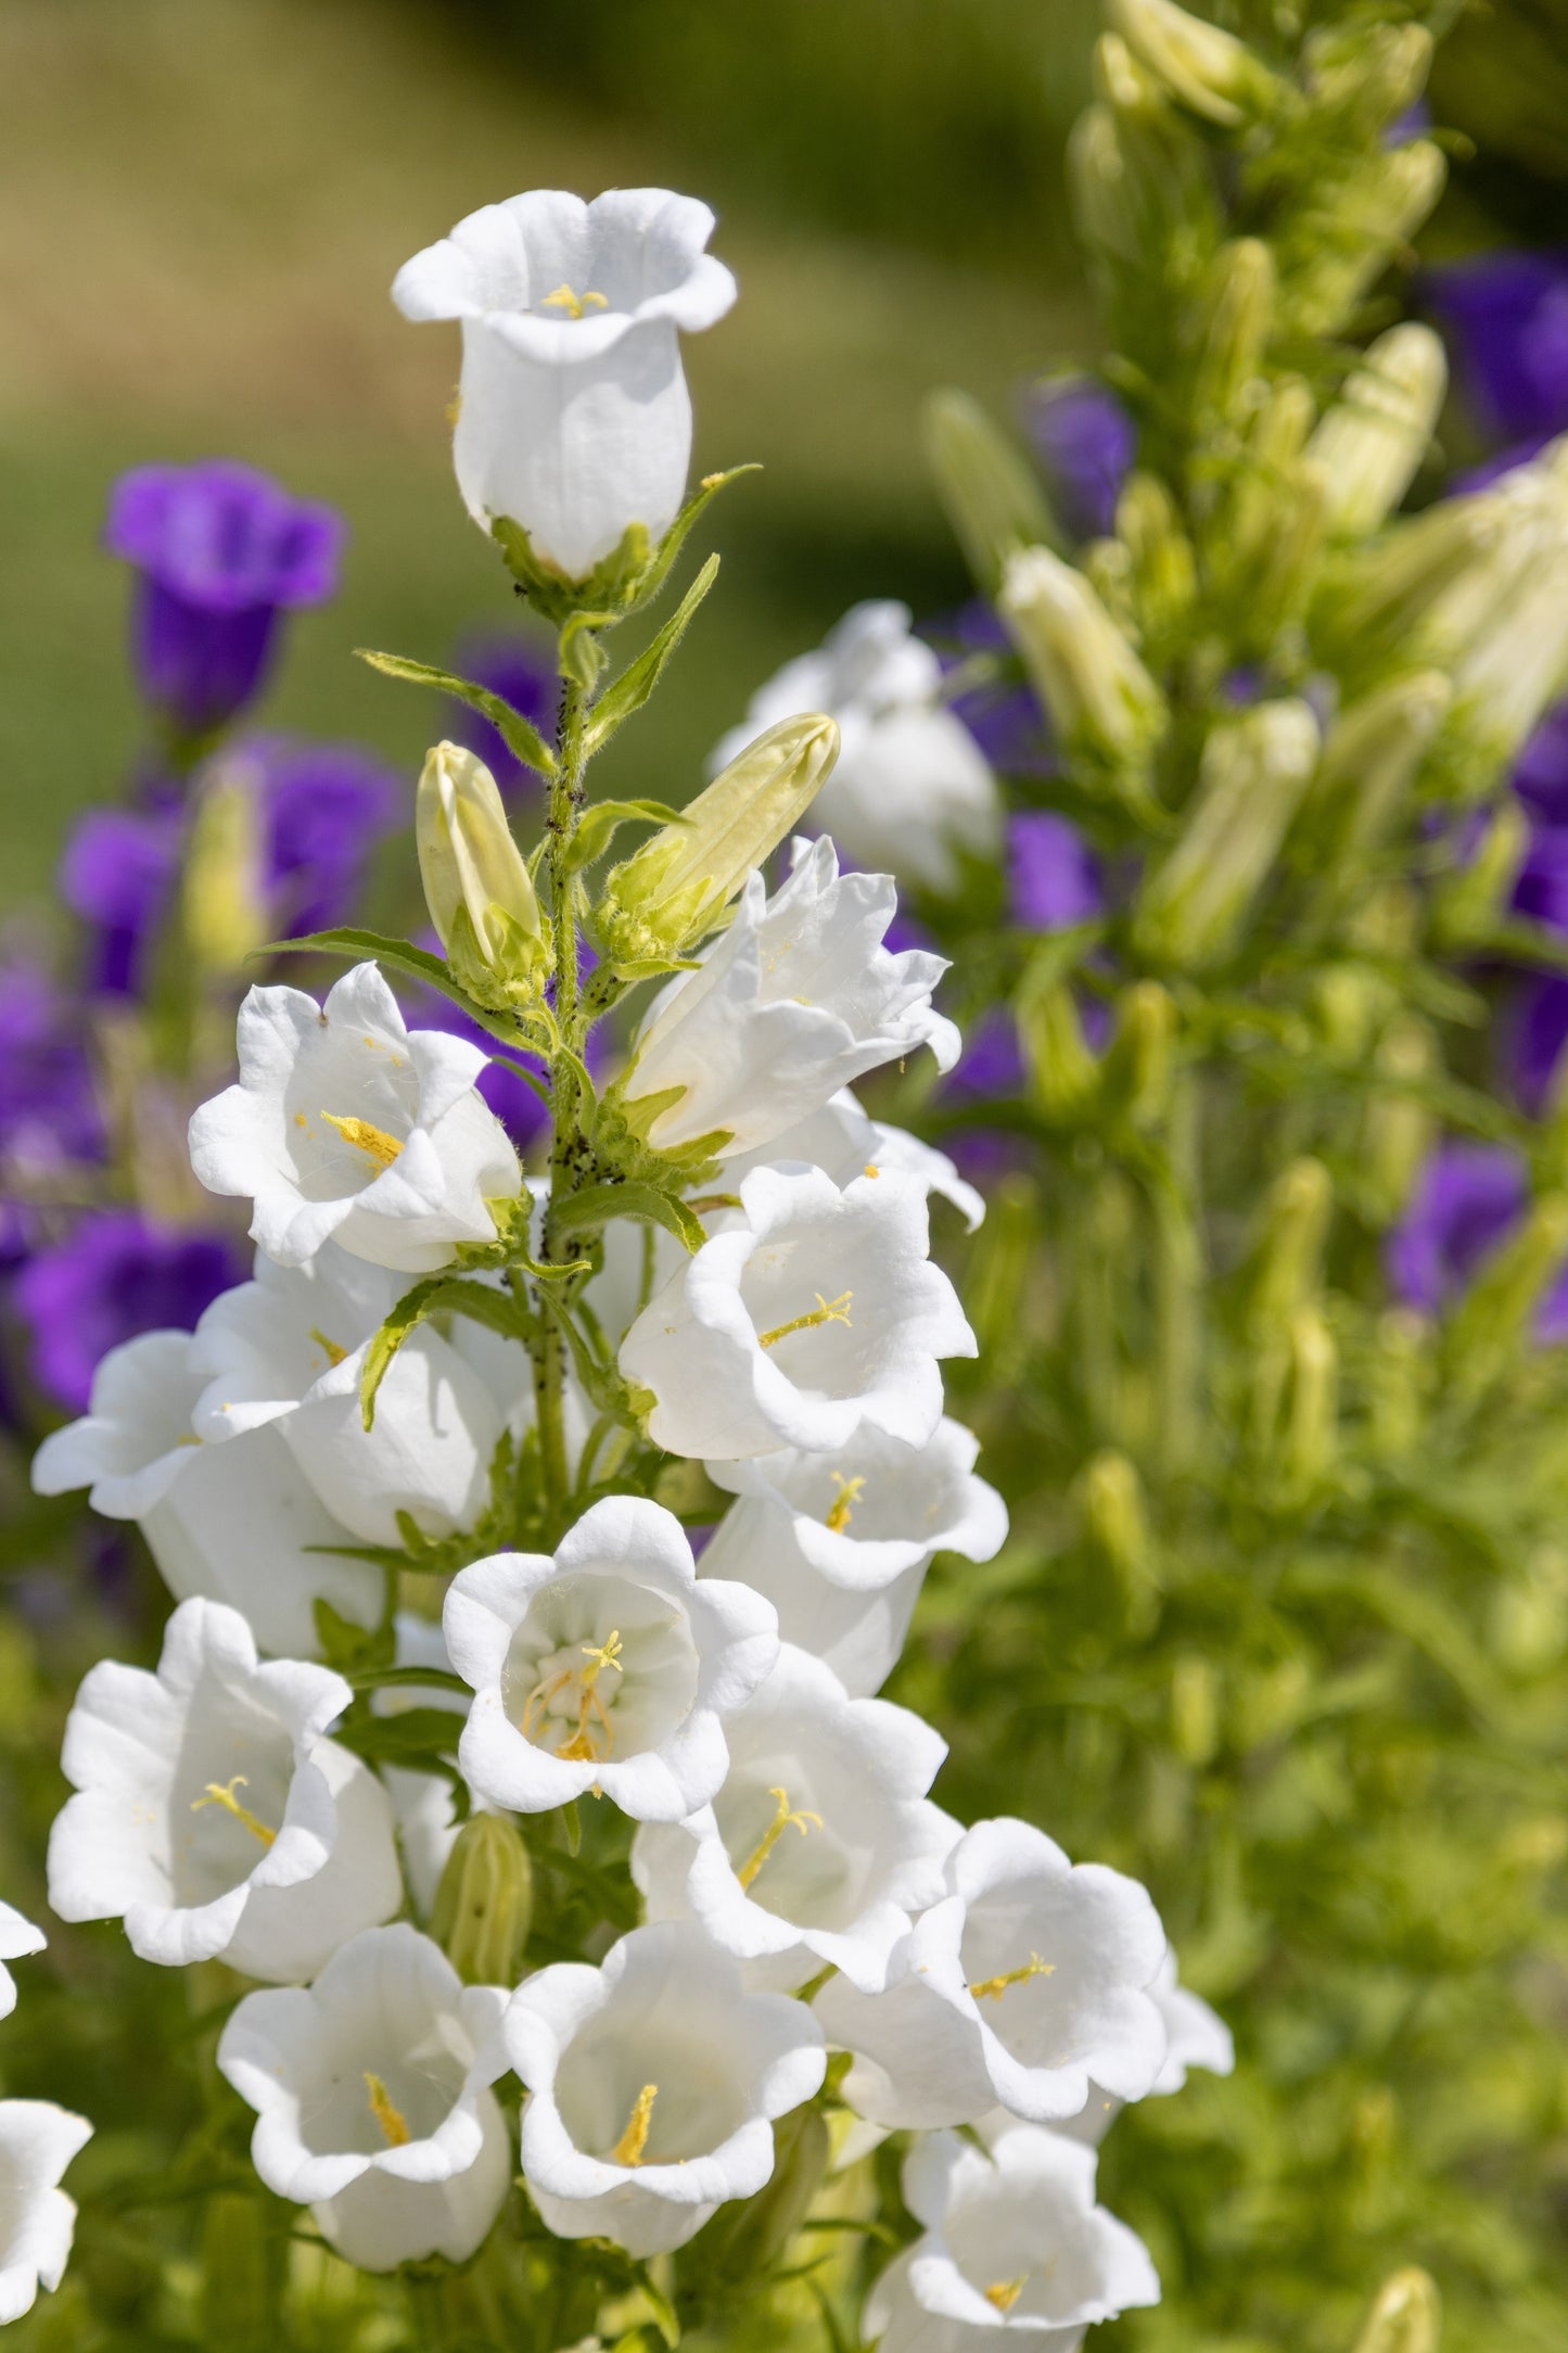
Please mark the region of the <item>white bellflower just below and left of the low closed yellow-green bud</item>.
<svg viewBox="0 0 1568 2353"><path fill-rule="evenodd" d="M512 2172L489 2089L503 2009L407 1920L341 1946L313 1986L235 2009L219 2071L256 2111L252 2162L343 2261L465 2264L489 2235Z"/></svg>

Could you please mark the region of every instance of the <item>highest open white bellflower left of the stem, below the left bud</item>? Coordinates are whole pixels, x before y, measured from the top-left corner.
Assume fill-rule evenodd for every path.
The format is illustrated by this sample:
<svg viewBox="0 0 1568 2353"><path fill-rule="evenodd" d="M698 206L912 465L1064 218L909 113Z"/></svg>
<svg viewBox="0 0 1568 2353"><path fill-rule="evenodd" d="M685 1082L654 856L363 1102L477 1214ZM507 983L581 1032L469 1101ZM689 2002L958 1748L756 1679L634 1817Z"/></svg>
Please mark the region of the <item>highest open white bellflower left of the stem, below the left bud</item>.
<svg viewBox="0 0 1568 2353"><path fill-rule="evenodd" d="M522 1191L501 1120L475 1094L487 1054L409 1031L376 965L327 1002L252 988L240 1080L190 1120L190 1167L209 1193L254 1202L252 1240L303 1266L336 1240L371 1266L428 1275L458 1242L494 1242L489 1200Z"/></svg>

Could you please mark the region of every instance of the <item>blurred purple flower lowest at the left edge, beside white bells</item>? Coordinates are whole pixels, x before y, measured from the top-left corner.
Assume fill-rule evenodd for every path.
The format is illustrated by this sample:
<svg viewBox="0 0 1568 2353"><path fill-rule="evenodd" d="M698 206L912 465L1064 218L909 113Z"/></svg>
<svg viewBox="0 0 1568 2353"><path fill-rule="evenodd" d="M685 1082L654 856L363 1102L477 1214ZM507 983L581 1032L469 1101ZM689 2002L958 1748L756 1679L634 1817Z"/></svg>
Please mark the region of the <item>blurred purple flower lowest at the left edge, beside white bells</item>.
<svg viewBox="0 0 1568 2353"><path fill-rule="evenodd" d="M63 1407L87 1412L99 1358L139 1332L190 1332L202 1308L242 1280L244 1261L219 1233L153 1226L139 1209L94 1209L16 1278L33 1374Z"/></svg>

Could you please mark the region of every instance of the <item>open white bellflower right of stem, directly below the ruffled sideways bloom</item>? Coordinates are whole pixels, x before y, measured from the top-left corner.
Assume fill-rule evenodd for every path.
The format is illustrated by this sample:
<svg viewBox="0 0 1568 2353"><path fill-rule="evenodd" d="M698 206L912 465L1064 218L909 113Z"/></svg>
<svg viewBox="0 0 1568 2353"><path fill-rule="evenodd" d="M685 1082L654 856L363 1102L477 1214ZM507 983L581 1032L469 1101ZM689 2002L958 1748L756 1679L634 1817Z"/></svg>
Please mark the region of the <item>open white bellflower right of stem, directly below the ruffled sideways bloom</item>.
<svg viewBox="0 0 1568 2353"><path fill-rule="evenodd" d="M973 1355L976 1337L929 1261L924 1186L759 1167L741 1209L621 1344L621 1372L654 1398L654 1442L717 1461L830 1452L860 1428L926 1445L943 1419L938 1358Z"/></svg>

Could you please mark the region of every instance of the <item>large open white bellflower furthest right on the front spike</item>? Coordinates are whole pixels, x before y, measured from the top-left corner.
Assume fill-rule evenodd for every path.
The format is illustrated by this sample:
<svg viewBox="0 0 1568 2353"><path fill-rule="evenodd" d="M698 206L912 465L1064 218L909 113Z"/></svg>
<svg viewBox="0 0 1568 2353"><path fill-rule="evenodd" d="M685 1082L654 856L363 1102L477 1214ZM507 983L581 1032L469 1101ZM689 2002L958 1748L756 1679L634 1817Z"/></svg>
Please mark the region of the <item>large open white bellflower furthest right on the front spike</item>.
<svg viewBox="0 0 1568 2353"><path fill-rule="evenodd" d="M1077 2115L1091 2082L1143 2099L1166 2061L1154 1979L1166 1934L1138 1880L1070 1864L1027 1821L978 1821L950 1894L893 1955L889 1991L835 1979L816 2000L856 2054L846 2101L877 2125L969 2125L994 2106Z"/></svg>

